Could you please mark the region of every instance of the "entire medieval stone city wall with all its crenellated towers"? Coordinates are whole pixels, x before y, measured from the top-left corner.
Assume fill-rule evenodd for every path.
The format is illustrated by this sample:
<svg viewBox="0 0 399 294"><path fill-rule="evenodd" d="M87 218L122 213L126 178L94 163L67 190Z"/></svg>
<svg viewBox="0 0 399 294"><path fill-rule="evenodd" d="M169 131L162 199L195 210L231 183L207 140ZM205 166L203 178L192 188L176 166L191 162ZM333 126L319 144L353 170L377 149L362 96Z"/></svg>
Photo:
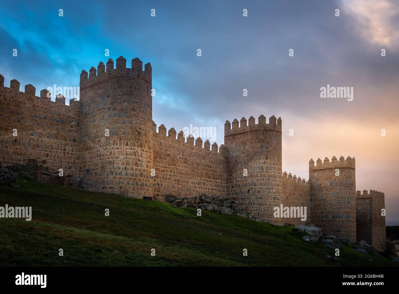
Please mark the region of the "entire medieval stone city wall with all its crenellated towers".
<svg viewBox="0 0 399 294"><path fill-rule="evenodd" d="M233 199L262 221L315 224L325 235L385 247L384 194L356 195L355 158L309 162L309 181L282 173L282 121L250 117L225 123L225 145L152 121L152 68L120 56L80 76L80 100L10 81L0 75L0 156L3 166L37 161L38 169L95 183L105 192L164 201L170 193ZM13 136L16 129L17 136ZM339 175L336 175L336 170ZM71 181L69 181L71 182ZM63 181L63 185L69 185ZM84 188L84 187L83 187ZM95 187L98 188L98 187ZM357 197L357 199L356 199ZM307 207L300 218L274 218L274 208Z"/></svg>

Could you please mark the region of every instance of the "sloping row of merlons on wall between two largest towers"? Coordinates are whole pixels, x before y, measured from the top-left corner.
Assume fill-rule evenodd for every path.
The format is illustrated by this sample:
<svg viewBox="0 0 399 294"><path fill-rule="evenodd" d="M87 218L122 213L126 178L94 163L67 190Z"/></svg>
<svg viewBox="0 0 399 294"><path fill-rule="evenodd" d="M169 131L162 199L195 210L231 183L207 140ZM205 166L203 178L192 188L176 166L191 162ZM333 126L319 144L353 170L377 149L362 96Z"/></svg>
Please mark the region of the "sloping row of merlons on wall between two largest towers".
<svg viewBox="0 0 399 294"><path fill-rule="evenodd" d="M206 140L205 142L202 141L200 137L197 139L194 139L194 136L192 134L188 135L187 137L184 135L183 131L180 131L179 133L176 133L176 130L172 127L169 129L169 131L166 133L166 127L162 124L158 127L158 133L157 133L157 128L156 128L156 123L152 121L152 131L154 134L158 134L159 136L162 136L164 138L170 139L170 140L176 140L176 143L184 143L185 147L190 148L190 149L199 149L203 151L207 151L210 154L220 154L225 156L226 155L226 148L225 145L221 144L218 146L217 143L214 142L211 143L209 140ZM177 134L177 137L176 137Z"/></svg>

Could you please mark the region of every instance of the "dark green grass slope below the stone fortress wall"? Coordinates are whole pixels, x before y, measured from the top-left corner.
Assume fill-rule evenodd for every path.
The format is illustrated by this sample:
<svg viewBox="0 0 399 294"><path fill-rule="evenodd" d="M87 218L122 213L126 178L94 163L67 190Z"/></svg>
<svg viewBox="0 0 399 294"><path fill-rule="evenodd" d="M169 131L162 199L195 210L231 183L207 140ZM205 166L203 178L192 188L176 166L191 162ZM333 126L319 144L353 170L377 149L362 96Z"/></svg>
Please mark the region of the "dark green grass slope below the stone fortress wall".
<svg viewBox="0 0 399 294"><path fill-rule="evenodd" d="M334 250L308 244L302 240L306 233L292 227L207 211L197 217L193 208L26 177L20 183L20 188L0 187L0 206L31 206L32 221L0 219L2 266L338 266L325 258L334 257ZM152 248L156 256L150 255ZM348 246L340 258L340 266L395 266Z"/></svg>

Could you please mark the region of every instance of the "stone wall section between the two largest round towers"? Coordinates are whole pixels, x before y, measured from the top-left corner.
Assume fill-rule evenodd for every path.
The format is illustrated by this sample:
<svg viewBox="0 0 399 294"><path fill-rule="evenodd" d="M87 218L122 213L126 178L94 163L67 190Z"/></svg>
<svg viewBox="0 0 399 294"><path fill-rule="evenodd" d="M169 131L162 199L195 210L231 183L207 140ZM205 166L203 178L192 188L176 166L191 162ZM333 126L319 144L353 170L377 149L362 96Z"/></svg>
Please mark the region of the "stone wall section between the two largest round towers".
<svg viewBox="0 0 399 294"><path fill-rule="evenodd" d="M201 194L226 197L226 151L224 145L195 140L174 128L166 135L164 125L153 125L154 199L165 195L194 197ZM210 148L211 147L211 148Z"/></svg>

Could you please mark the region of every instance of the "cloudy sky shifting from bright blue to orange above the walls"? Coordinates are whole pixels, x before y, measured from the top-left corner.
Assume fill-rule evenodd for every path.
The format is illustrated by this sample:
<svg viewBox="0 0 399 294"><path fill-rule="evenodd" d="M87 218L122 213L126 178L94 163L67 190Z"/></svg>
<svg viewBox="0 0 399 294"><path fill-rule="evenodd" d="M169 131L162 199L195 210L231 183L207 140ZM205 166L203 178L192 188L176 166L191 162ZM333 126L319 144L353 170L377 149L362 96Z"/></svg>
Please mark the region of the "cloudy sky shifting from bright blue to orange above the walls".
<svg viewBox="0 0 399 294"><path fill-rule="evenodd" d="M310 158L355 157L356 190L384 192L386 223L399 224L398 0L143 2L2 1L5 85L40 95L138 57L152 65L158 126L215 128L203 141L221 145L226 120L281 117L283 171L307 180ZM327 85L353 101L320 97Z"/></svg>

